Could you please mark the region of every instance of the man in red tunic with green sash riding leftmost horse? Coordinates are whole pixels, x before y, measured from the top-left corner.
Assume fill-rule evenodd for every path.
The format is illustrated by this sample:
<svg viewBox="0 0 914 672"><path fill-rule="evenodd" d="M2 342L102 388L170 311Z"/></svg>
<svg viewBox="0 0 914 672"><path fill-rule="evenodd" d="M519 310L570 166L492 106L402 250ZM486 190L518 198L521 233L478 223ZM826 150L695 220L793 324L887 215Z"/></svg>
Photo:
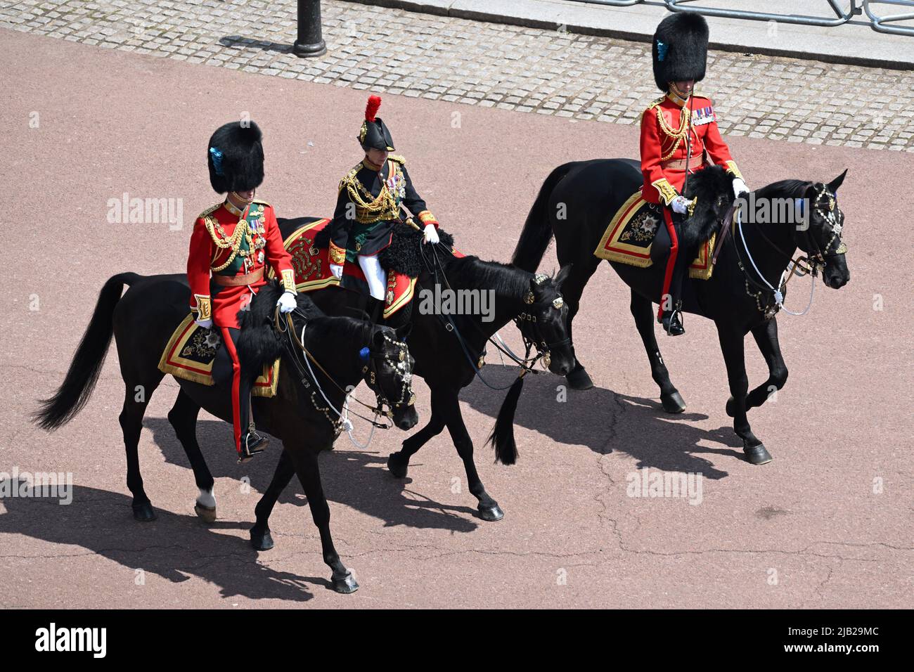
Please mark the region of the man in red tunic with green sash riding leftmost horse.
<svg viewBox="0 0 914 672"><path fill-rule="evenodd" d="M209 138L209 183L226 197L197 218L187 256L195 321L207 329L218 328L231 360L232 425L239 463L262 453L268 443L250 421L250 389L257 375L242 375L236 348L239 311L267 283L267 264L282 278L285 291L277 302L280 310L288 313L295 308L292 258L282 246L273 208L254 197L263 182L260 140L260 128L253 122L227 123ZM220 377L216 370L213 373L214 378Z"/></svg>

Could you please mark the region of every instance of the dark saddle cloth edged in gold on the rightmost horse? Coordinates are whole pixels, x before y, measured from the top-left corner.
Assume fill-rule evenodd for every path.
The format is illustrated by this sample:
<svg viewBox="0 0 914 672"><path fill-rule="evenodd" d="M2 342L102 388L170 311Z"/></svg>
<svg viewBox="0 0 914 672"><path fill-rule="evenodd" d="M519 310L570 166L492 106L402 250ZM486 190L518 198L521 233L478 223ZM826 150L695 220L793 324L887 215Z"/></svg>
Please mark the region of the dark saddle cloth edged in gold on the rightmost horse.
<svg viewBox="0 0 914 672"><path fill-rule="evenodd" d="M649 267L651 260L651 246L654 244L654 234L659 227L664 227L664 212L661 206L648 203L638 189L622 208L613 215L610 226L600 239L600 244L593 252L600 259L619 261L640 268ZM714 242L717 234L712 234L698 248L698 256L688 267L688 276L698 280L707 280L714 272L711 264L711 254L714 251Z"/></svg>

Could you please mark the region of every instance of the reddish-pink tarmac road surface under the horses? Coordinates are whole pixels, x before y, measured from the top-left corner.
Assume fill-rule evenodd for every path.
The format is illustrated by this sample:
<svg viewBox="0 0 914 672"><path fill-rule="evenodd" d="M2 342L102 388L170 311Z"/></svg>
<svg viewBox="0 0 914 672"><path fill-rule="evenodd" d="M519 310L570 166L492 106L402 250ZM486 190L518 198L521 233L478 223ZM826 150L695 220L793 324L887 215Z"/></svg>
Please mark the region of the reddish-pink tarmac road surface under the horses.
<svg viewBox="0 0 914 672"><path fill-rule="evenodd" d="M492 464L484 446L502 394L474 383L462 395L502 521L473 516L446 433L413 458L406 481L385 467L405 436L393 430L365 452L343 438L324 455L336 548L361 584L344 596L327 590L330 572L297 483L271 519L276 548L249 548L253 507L277 453L235 464L231 427L205 413L198 436L217 479L219 519L208 527L197 519L193 475L165 420L173 380L154 394L140 443L159 513L151 524L134 522L129 507L113 347L75 421L47 434L27 413L60 383L110 275L184 270L189 227L217 198L207 182L209 133L249 111L265 135L260 196L280 216L325 216L340 176L360 158L355 134L367 92L11 31L0 32L0 43L2 222L12 234L0 472L71 472L75 482L69 507L0 500L0 606L914 606L914 155L730 139L754 187L828 180L849 168L840 203L851 281L839 291L820 283L809 315L779 316L790 380L776 402L749 415L771 464L741 459L707 321L693 317L686 336L661 339L688 409L674 417L659 410L627 291L604 266L575 329L597 387L560 403L562 379L530 380L517 416L518 464ZM32 112L38 128L29 127ZM634 126L397 96L386 97L381 116L462 250L501 261L552 167L637 154ZM108 199L123 192L183 198L184 228L109 223ZM554 266L550 251L543 268ZM789 303L797 309L808 280L794 282ZM29 309L33 295L38 310ZM874 309L878 297L882 310ZM504 333L516 342L513 327ZM754 386L767 371L751 339L747 359ZM502 381L513 375L487 370ZM417 393L424 422L428 390L420 383ZM642 467L703 474L701 504L626 496L626 476Z"/></svg>

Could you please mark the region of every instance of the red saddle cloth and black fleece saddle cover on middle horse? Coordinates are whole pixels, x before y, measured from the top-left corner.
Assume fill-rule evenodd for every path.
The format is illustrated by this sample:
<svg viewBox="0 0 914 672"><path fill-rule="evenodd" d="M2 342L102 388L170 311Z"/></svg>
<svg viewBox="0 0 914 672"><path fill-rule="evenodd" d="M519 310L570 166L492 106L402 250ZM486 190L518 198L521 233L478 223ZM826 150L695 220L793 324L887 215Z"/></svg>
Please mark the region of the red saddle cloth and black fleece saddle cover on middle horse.
<svg viewBox="0 0 914 672"><path fill-rule="evenodd" d="M285 240L285 249L292 255L295 270L295 287L299 292L313 292L324 287L339 286L330 272L329 246L330 219L318 219L295 229ZM453 237L439 230L441 244L451 250L454 256L463 255L453 249ZM416 279L425 270L425 261L420 253L422 232L408 226L394 227L390 244L378 252L381 268L388 272L388 290L384 302L384 319L389 319L409 304L416 289ZM361 293L368 293L365 274L357 263L345 263L343 274L346 285L355 287ZM272 277L272 271L269 274Z"/></svg>

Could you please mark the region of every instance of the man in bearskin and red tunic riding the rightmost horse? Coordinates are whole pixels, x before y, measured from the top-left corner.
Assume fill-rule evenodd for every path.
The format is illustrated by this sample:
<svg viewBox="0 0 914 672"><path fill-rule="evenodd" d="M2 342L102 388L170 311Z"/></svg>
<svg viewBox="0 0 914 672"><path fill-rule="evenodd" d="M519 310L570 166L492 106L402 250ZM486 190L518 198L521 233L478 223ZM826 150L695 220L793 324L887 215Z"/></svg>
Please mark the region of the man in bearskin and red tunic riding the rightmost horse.
<svg viewBox="0 0 914 672"><path fill-rule="evenodd" d="M641 120L642 195L663 206L669 232L657 319L672 336L685 333L679 313L690 251L679 250L674 222L682 223L695 207L682 195L686 175L707 165L721 165L734 176L734 197L749 191L717 130L712 102L694 91L695 83L705 79L707 37L707 22L694 13L674 14L660 22L652 53L654 81L664 96L648 106ZM658 237L654 244L664 242Z"/></svg>

